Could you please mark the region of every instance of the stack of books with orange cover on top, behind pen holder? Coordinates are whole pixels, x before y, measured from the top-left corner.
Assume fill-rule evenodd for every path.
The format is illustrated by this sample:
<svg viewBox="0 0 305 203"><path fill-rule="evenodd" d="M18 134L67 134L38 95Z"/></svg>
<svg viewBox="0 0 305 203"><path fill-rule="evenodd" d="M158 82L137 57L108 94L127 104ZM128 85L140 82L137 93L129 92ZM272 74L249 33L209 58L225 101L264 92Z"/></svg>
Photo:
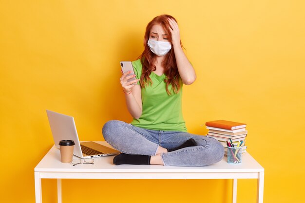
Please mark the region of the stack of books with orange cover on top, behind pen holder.
<svg viewBox="0 0 305 203"><path fill-rule="evenodd" d="M246 130L246 124L233 121L217 120L206 122L208 136L217 139L225 148L225 155L228 154L228 148L226 141L231 140L233 145L237 147L239 142L242 142L242 153L246 152L247 146L245 146L246 136L248 131Z"/></svg>

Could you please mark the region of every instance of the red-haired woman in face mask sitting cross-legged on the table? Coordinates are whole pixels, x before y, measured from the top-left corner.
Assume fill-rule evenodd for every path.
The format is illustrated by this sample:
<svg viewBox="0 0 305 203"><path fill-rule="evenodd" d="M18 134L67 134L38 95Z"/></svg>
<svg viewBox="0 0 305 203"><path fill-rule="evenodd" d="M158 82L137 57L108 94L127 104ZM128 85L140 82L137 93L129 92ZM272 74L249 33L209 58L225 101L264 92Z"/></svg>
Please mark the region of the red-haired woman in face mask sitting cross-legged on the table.
<svg viewBox="0 0 305 203"><path fill-rule="evenodd" d="M144 51L133 61L135 74L122 74L131 124L108 121L105 140L121 151L114 164L207 166L219 162L223 146L210 137L187 132L182 116L182 86L192 84L195 71L182 50L177 21L169 15L152 19ZM127 80L134 78L135 81Z"/></svg>

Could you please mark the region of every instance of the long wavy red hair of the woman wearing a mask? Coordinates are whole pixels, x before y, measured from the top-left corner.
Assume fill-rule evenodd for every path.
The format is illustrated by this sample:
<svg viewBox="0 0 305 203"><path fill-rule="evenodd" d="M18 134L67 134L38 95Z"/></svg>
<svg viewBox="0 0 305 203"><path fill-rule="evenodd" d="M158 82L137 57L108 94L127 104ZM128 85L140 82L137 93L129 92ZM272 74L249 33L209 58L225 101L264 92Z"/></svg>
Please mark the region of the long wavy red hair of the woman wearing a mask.
<svg viewBox="0 0 305 203"><path fill-rule="evenodd" d="M141 58L141 63L142 63L142 75L140 77L141 87L145 88L148 85L152 85L152 80L149 76L152 73L152 71L156 70L156 66L153 65L156 55L152 53L149 46L147 45L152 26L155 24L160 24L163 27L165 34L168 35L168 40L172 42L172 34L169 28L171 27L171 25L169 24L168 18L172 18L177 22L177 20L170 15L161 15L153 18L152 21L150 21L146 26L146 31L144 36L144 51L139 56L139 58ZM181 41L180 44L182 46ZM178 93L181 87L180 85L181 78L178 72L178 67L173 48L165 55L162 61L162 66L164 67L164 74L166 75L166 78L164 79L164 82L166 82L166 92L169 95L171 94L171 91L169 90L168 87L170 84L172 84L173 92Z"/></svg>

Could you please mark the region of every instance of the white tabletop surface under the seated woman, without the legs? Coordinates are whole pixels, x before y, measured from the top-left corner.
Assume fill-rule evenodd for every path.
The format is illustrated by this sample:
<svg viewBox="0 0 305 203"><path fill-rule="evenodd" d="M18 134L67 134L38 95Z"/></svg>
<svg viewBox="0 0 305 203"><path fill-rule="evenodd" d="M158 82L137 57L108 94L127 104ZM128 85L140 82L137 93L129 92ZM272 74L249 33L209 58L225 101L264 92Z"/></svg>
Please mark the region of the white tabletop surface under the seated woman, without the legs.
<svg viewBox="0 0 305 203"><path fill-rule="evenodd" d="M97 141L109 146L106 142ZM109 146L110 147L110 146ZM74 156L73 159L78 157ZM181 166L159 166L159 165L119 165L113 164L114 156L97 157L95 164L72 164L61 163L60 150L53 146L44 158L35 167L37 172L137 172L137 173L172 173L172 172L264 172L264 168L248 153L242 155L242 163L228 164L227 156L220 162L202 167L181 167Z"/></svg>

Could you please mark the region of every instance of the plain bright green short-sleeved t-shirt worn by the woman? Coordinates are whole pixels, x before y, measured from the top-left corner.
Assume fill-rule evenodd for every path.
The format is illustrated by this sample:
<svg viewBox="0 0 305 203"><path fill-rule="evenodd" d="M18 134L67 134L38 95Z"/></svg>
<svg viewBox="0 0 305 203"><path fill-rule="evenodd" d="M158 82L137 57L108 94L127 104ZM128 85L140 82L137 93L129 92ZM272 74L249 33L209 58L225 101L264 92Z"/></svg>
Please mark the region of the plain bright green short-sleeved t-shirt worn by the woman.
<svg viewBox="0 0 305 203"><path fill-rule="evenodd" d="M133 70L136 78L142 74L142 63L138 59L133 61ZM166 92L165 74L157 75L152 72L150 75L152 85L141 87L142 115L139 119L131 122L133 126L165 131L187 131L182 115L182 83L178 93L172 91L171 95ZM138 82L138 84L140 84Z"/></svg>

